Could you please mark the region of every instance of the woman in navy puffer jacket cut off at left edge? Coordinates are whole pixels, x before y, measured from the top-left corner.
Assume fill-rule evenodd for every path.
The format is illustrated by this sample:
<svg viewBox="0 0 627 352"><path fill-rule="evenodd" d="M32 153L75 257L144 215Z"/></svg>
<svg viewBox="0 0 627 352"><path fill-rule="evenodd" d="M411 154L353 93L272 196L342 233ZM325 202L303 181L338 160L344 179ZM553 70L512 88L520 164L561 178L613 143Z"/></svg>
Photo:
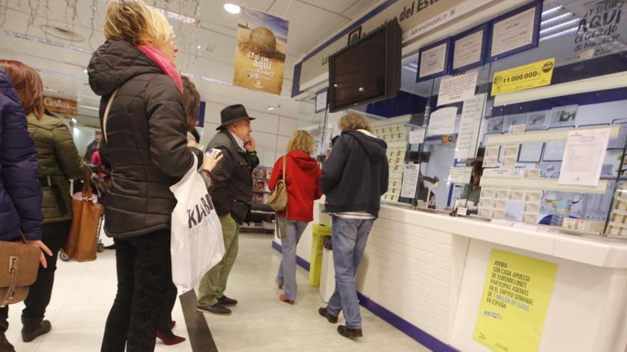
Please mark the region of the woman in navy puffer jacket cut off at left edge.
<svg viewBox="0 0 627 352"><path fill-rule="evenodd" d="M18 87L22 84L22 81L16 82ZM31 107L31 101L27 100L24 106ZM52 255L41 242L43 214L41 185L37 181L37 149L28 135L23 104L1 66L0 141L0 240L16 241L24 236L30 245ZM48 264L43 252L40 262L45 268ZM9 329L8 318L9 306L0 307L0 352L15 351L5 336Z"/></svg>

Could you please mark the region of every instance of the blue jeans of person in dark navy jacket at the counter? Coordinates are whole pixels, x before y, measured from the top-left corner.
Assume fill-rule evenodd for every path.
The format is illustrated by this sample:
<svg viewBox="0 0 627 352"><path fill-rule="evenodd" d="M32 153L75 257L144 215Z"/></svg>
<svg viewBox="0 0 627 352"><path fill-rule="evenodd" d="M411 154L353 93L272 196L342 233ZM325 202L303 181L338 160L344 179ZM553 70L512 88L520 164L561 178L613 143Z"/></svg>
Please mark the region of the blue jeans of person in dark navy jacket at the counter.
<svg viewBox="0 0 627 352"><path fill-rule="evenodd" d="M336 270L336 289L328 300L326 311L334 316L343 311L346 327L349 329L361 329L355 274L374 223L374 219L353 220L333 216L333 266Z"/></svg>

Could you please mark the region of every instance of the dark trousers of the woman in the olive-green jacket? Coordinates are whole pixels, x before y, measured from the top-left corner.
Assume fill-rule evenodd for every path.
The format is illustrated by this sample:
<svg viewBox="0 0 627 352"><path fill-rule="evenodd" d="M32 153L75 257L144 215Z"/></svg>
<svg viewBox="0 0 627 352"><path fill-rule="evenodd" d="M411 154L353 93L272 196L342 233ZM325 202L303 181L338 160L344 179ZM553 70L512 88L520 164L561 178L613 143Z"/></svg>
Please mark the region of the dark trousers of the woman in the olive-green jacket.
<svg viewBox="0 0 627 352"><path fill-rule="evenodd" d="M41 265L37 271L35 283L28 289L28 296L24 300L26 308L22 311L22 318L28 321L41 321L46 307L50 303L52 286L54 283L54 272L56 271L56 260L58 252L66 244L70 233L71 221L61 223L46 223L41 226L43 233L42 242L50 248L52 256L45 255L48 267ZM0 308L0 332L9 329L9 306Z"/></svg>

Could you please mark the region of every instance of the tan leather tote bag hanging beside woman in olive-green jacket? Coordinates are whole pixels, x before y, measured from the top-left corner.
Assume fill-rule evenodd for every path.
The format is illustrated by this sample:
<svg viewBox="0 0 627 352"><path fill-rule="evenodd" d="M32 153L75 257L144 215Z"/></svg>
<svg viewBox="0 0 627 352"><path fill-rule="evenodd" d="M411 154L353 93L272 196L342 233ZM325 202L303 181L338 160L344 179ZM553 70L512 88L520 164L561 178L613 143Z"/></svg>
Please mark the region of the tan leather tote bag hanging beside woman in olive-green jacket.
<svg viewBox="0 0 627 352"><path fill-rule="evenodd" d="M72 199L72 226L68 235L68 242L63 246L63 252L76 262L90 262L95 260L96 245L98 244L98 228L103 208L94 203L94 196L89 184L89 171L83 175L83 198Z"/></svg>

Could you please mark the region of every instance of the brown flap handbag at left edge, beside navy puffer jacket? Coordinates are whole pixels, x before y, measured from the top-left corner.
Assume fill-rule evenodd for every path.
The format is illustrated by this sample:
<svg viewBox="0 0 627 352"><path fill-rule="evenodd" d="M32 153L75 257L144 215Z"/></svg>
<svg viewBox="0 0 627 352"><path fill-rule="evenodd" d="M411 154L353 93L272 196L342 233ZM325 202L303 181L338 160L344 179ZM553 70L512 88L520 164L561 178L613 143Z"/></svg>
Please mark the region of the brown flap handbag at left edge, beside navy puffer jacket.
<svg viewBox="0 0 627 352"><path fill-rule="evenodd" d="M0 241L0 306L24 301L37 279L41 250L20 235L21 241Z"/></svg>

